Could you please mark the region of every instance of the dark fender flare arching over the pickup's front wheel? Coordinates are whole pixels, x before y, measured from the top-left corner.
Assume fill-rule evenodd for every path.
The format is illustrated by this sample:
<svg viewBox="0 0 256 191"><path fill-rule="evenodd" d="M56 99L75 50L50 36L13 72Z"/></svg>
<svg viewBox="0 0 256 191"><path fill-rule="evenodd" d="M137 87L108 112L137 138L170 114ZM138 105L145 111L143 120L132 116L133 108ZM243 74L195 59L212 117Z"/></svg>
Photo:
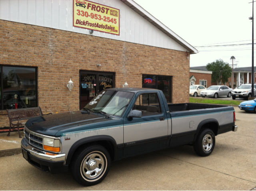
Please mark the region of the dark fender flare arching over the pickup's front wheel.
<svg viewBox="0 0 256 191"><path fill-rule="evenodd" d="M116 158L116 149L117 149L117 145L116 145L116 140L114 140L114 138L112 138L111 136L107 136L107 135L97 135L97 136L91 136L91 137L86 137L86 138L82 138L80 140L78 140L77 142L75 142L69 152L68 152L68 156L66 159L66 165L70 164L70 161L72 159L72 156L74 154L74 152L82 145L84 144L88 144L88 143L93 143L93 142L100 142L100 141L108 141L112 144L112 146L114 147L114 159ZM104 145L102 145L104 146ZM110 154L111 155L111 154Z"/></svg>

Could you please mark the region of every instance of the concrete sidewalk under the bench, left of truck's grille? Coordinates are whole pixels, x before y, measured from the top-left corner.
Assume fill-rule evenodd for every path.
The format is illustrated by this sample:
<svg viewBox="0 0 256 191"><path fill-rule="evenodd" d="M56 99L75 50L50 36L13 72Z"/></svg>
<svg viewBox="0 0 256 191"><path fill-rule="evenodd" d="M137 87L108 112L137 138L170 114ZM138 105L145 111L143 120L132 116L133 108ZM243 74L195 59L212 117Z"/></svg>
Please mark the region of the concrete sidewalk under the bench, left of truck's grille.
<svg viewBox="0 0 256 191"><path fill-rule="evenodd" d="M21 154L20 143L24 137L23 131L20 131L22 138L19 138L18 131L11 132L10 136L7 134L0 133L0 157Z"/></svg>

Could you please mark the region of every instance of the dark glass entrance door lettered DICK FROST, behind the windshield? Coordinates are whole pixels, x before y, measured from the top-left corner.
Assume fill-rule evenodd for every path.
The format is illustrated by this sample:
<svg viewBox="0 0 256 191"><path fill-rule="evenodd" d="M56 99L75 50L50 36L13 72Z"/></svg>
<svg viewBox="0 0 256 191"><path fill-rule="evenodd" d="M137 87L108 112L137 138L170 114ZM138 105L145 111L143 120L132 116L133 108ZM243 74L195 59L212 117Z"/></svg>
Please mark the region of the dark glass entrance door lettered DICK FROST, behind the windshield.
<svg viewBox="0 0 256 191"><path fill-rule="evenodd" d="M114 73L80 71L80 109L105 89L113 88Z"/></svg>

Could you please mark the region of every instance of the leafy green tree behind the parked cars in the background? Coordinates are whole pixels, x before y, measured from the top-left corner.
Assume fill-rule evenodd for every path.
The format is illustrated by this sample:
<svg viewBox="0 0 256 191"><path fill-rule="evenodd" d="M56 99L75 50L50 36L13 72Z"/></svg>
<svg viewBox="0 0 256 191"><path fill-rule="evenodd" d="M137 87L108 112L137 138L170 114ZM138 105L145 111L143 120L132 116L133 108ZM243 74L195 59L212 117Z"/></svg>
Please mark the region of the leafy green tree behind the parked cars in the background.
<svg viewBox="0 0 256 191"><path fill-rule="evenodd" d="M232 68L222 59L208 63L206 69L212 71L212 83L216 82L217 85L227 83L228 78L232 77Z"/></svg>

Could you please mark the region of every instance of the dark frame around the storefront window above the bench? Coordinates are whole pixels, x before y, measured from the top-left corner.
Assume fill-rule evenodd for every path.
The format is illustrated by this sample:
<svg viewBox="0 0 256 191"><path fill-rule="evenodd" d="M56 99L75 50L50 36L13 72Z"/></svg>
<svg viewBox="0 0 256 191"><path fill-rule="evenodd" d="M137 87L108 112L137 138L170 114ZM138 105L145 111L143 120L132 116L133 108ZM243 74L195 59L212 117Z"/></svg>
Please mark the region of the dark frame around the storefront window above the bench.
<svg viewBox="0 0 256 191"><path fill-rule="evenodd" d="M36 107L38 107L38 67L33 67L33 66L22 66L22 65L0 65L0 78L1 78L1 108L0 110L5 110L4 109L4 99L2 98L2 96L4 95L4 77L3 77L3 67L13 67L13 68L33 68L36 69Z"/></svg>

